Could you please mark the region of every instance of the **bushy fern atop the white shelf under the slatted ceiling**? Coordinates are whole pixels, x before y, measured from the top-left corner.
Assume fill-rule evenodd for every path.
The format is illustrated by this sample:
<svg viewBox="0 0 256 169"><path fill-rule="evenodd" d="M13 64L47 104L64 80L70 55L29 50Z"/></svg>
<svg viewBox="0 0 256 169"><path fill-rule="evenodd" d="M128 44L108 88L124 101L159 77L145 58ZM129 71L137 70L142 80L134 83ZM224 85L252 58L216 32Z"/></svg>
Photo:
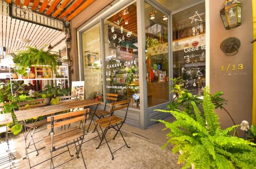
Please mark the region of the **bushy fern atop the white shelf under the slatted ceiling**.
<svg viewBox="0 0 256 169"><path fill-rule="evenodd" d="M13 62L16 63L17 73L24 75L27 67L31 65L49 65L52 70L55 70L58 65L59 55L53 52L48 52L35 47L27 46L27 50L17 51L17 54L11 54Z"/></svg>

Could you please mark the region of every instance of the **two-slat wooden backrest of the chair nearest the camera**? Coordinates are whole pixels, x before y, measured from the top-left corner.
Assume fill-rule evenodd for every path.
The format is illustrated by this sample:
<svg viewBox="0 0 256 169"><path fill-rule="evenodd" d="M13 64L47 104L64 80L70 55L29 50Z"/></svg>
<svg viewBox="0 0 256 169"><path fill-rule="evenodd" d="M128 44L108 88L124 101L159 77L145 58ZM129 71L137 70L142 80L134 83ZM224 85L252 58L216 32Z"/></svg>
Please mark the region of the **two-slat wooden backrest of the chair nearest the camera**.
<svg viewBox="0 0 256 169"><path fill-rule="evenodd" d="M88 108L84 110L49 116L47 117L47 122L51 122L51 124L47 125L47 129L51 129L51 133L53 133L55 127L60 127L60 126L68 125L68 124L79 122L79 121L84 122L85 124L86 119L89 118L89 114L88 114L89 111L90 109ZM73 118L69 118L69 117L73 117ZM55 122L58 119L62 119L62 120L60 122Z"/></svg>

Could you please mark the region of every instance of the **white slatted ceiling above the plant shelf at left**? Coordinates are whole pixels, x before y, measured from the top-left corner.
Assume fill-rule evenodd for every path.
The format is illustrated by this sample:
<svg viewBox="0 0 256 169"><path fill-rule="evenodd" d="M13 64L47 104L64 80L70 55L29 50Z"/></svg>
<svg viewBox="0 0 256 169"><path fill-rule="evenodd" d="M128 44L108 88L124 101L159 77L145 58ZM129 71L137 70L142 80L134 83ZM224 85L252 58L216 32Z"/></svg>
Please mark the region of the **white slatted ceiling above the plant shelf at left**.
<svg viewBox="0 0 256 169"><path fill-rule="evenodd" d="M35 25L23 20L0 15L0 46L6 46L7 53L24 50L25 46L41 49L46 44L54 46L65 38L65 33L51 28ZM29 43L18 41L20 38L31 40Z"/></svg>

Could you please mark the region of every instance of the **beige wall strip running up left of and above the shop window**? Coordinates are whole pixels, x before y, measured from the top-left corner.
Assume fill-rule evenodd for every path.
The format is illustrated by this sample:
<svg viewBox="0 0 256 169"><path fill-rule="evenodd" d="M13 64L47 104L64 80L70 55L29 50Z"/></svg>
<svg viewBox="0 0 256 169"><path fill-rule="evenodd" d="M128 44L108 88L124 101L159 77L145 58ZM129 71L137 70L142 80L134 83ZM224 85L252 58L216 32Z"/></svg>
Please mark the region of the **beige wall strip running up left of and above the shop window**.
<svg viewBox="0 0 256 169"><path fill-rule="evenodd" d="M72 68L74 69L74 73L71 77L72 81L79 80L76 29L112 2L113 0L95 0L89 7L84 9L81 13L79 13L71 20L70 28L72 40L70 57L73 59Z"/></svg>

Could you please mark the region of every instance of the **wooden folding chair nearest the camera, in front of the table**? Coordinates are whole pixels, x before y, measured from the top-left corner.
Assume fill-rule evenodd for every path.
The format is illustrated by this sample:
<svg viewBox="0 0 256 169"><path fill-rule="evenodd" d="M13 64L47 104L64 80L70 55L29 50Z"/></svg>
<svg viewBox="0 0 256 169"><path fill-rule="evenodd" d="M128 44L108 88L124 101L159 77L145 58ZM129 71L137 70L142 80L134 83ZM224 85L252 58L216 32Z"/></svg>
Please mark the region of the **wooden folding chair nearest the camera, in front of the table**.
<svg viewBox="0 0 256 169"><path fill-rule="evenodd" d="M44 141L45 141L46 148L50 149L51 168L52 168L52 166L53 166L53 168L55 168L55 167L65 164L75 158L79 158L79 152L81 152L81 155L82 155L81 146L83 143L84 135L86 134L86 120L89 117L88 116L89 111L90 111L90 109L84 109L84 110L80 110L80 111L74 111L74 112L58 114L58 115L47 117L47 121L51 122L51 124L47 126L47 128L51 130L51 135L44 137ZM69 118L69 117L73 117L73 118ZM56 122L56 120L59 120L59 119L62 119L62 121ZM82 131L78 127L73 127L73 128L67 129L67 130L60 131L58 133L54 133L54 129L56 127L68 125L68 124L75 123L75 122L83 122L83 124L82 124L83 130ZM77 150L76 143L78 143L78 147L79 147L78 150ZM71 155L70 150L69 150L69 146L72 144L75 144L76 157L74 157L62 164L59 164L58 166L54 166L53 152L67 147L68 148L67 151L69 151L69 155L71 157L73 157L73 155ZM60 154L62 154L62 153L60 153ZM60 154L58 154L58 155L60 155ZM56 157L58 155L55 155L54 157ZM84 166L86 167L86 163L84 162L83 155L82 155L82 160L83 160Z"/></svg>

